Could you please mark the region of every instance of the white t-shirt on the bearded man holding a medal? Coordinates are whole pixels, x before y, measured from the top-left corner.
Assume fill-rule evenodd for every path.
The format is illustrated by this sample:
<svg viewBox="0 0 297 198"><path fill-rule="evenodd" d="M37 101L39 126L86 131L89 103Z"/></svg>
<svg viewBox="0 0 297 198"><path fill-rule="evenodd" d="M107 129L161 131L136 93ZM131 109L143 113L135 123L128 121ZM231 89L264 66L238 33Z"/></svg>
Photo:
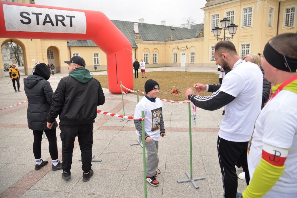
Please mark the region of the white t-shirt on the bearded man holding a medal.
<svg viewBox="0 0 297 198"><path fill-rule="evenodd" d="M247 142L261 111L263 74L254 63L239 59L225 75L219 90L234 96L225 105L219 137L233 142Z"/></svg>

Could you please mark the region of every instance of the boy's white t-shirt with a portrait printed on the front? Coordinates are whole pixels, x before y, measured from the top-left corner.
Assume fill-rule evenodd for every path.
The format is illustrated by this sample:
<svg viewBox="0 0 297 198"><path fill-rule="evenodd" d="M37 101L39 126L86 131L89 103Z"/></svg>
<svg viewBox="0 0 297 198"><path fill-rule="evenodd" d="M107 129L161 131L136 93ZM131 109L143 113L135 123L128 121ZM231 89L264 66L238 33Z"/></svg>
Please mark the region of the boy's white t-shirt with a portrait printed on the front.
<svg viewBox="0 0 297 198"><path fill-rule="evenodd" d="M135 107L134 117L141 118L141 111L144 111L144 130L155 141L159 141L159 123L162 109L163 103L159 98L156 98L156 102L151 102L146 97L143 97ZM140 133L142 132L140 131ZM136 130L138 136L140 133Z"/></svg>

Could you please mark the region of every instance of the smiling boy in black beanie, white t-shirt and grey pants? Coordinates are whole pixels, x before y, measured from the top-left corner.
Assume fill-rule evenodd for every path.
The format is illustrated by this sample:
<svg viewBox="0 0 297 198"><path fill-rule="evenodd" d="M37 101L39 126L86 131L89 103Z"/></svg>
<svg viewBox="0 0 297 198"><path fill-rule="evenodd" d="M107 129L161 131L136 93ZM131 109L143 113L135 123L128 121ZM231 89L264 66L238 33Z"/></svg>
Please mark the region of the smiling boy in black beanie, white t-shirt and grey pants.
<svg viewBox="0 0 297 198"><path fill-rule="evenodd" d="M145 130L145 146L147 151L146 157L146 180L152 186L158 186L156 180L157 167L159 164L158 148L159 135L164 136L165 126L163 121L162 109L163 103L157 98L159 93L159 84L154 80L147 80L144 84L146 95L136 105L134 116L141 118L141 112L144 111L144 130ZM142 137L141 120L134 120L136 133Z"/></svg>

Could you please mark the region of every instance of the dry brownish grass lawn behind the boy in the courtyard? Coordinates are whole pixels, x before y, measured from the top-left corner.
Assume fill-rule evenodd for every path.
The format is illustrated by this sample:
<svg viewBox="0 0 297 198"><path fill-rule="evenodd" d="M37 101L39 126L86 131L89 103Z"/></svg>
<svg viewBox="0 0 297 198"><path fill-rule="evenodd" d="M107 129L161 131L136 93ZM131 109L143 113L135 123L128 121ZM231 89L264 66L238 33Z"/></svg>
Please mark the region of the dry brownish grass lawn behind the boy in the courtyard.
<svg viewBox="0 0 297 198"><path fill-rule="evenodd" d="M98 79L104 88L108 88L107 75L93 76ZM184 93L187 88L193 87L195 83L201 84L218 84L219 75L215 73L208 72L171 72L171 71L158 71L158 72L146 72L146 78L142 78L141 73L138 73L139 78L134 78L134 88L136 91L136 85L138 84L138 89L144 91L144 83L148 79L153 79L157 81L160 85L159 98L175 101L186 100ZM125 86L125 85L124 85ZM178 89L181 93L170 94L171 88L175 86L175 89ZM127 87L132 89L131 87ZM193 89L194 90L194 89ZM127 90L123 90L127 91ZM195 91L195 90L194 90ZM132 93L136 94L136 93ZM196 93L197 94L197 93ZM208 96L212 94L211 92L203 91L200 92L200 96ZM140 96L143 96L142 93L139 93Z"/></svg>

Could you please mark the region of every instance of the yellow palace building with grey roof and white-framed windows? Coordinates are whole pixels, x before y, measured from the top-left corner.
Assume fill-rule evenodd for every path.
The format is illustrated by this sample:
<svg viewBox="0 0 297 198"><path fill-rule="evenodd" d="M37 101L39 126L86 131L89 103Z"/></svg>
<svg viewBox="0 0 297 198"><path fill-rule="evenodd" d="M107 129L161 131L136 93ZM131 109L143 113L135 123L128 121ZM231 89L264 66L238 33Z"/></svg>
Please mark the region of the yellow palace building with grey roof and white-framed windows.
<svg viewBox="0 0 297 198"><path fill-rule="evenodd" d="M8 0L13 1L13 0ZM15 0L31 3L29 0ZM296 28L296 0L207 0L204 23L181 27L147 24L141 18L138 22L111 20L127 37L132 46L132 62L143 59L146 68L156 66L213 67L213 47L218 42L212 29L221 27L220 20L227 18L229 25L235 24L236 34L225 37L234 43L239 56L262 53L269 39L277 34L294 32ZM170 12L164 11L164 12ZM173 11L172 11L173 12ZM176 12L176 11L174 11ZM81 56L86 61L86 69L106 70L106 55L91 40L47 40L0 38L1 47L7 42L15 42L22 48L25 74L32 74L36 62L53 63L56 72L68 73L64 61L72 56ZM218 39L224 37L224 29ZM232 37L232 38L230 38ZM110 42L113 42L111 39ZM5 77L4 55L0 60L0 77ZM132 65L131 65L132 72Z"/></svg>

